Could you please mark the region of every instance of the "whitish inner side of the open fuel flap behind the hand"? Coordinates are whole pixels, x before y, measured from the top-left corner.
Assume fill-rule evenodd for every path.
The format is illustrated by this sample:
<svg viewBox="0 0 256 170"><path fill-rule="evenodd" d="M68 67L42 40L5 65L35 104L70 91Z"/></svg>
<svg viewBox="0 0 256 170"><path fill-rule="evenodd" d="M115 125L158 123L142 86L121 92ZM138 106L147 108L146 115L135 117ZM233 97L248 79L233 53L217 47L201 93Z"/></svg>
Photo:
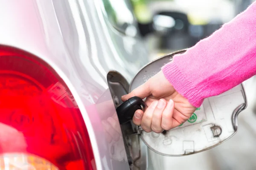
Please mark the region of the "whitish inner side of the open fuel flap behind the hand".
<svg viewBox="0 0 256 170"><path fill-rule="evenodd" d="M129 92L157 74L170 62L174 52L160 57L142 68L131 81ZM165 156L198 153L221 144L237 132L237 116L247 106L242 84L204 100L201 107L182 125L165 133L140 131L143 142L153 151Z"/></svg>

